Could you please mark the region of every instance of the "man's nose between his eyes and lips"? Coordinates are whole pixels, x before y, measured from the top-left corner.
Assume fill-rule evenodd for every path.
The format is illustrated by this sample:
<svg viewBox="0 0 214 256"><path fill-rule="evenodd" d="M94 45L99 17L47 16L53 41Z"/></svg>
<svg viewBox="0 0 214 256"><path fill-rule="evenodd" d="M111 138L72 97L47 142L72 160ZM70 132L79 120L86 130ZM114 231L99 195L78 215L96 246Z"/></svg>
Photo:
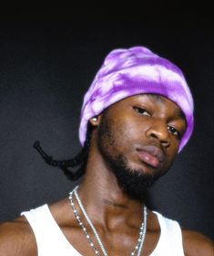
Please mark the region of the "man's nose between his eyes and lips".
<svg viewBox="0 0 214 256"><path fill-rule="evenodd" d="M168 147L170 145L168 126L166 123L158 122L150 126L146 131L146 136L149 139L158 140L164 147Z"/></svg>

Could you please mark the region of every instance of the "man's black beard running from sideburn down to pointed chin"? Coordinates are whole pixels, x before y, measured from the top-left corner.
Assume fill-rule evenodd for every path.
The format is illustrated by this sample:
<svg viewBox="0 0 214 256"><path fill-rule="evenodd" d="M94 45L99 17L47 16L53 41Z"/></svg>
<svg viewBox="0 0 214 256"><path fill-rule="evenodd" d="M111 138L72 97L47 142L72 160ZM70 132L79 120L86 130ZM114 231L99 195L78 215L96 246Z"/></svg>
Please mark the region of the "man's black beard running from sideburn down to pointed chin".
<svg viewBox="0 0 214 256"><path fill-rule="evenodd" d="M143 173L142 170L128 167L127 157L115 154L111 150L117 146L117 135L113 135L108 127L105 113L97 130L97 145L110 171L117 178L117 185L132 199L140 202L145 200L148 188L163 175L162 172L154 174Z"/></svg>

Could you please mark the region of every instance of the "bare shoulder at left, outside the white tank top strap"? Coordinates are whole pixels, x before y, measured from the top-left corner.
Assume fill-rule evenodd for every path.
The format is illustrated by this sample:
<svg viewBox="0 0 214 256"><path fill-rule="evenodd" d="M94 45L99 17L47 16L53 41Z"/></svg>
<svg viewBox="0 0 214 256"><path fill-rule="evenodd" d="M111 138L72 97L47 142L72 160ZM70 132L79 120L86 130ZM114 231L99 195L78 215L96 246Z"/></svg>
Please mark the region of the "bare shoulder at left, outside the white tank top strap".
<svg viewBox="0 0 214 256"><path fill-rule="evenodd" d="M0 223L0 255L36 255L36 240L25 217Z"/></svg>

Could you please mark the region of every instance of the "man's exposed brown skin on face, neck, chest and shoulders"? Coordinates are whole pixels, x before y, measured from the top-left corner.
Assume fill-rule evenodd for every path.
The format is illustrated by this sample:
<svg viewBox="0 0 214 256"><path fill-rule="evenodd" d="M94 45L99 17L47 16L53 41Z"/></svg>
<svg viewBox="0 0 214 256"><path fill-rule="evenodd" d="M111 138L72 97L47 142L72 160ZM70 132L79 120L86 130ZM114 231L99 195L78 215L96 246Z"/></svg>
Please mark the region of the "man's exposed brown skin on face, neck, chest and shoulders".
<svg viewBox="0 0 214 256"><path fill-rule="evenodd" d="M101 240L104 241L108 255L124 256L133 251L138 240L144 203L129 197L118 186L116 176L109 170L107 160L97 146L98 129L102 118L104 116L101 114L97 120L90 120L95 129L92 134L87 172L79 186L78 194ZM113 104L105 112L105 122L113 135L112 141L103 138L102 144L107 153L124 155L127 166L138 169L142 174L164 173L168 170L178 153L180 136L186 129L185 120L174 102L164 97L148 95L132 96ZM145 163L138 155L138 148L149 144L158 147L165 155L164 161L159 163L158 167ZM66 239L76 251L82 255L94 255L83 231L79 229L69 200L65 198L49 205L49 208ZM80 213L77 204L76 208ZM135 218L131 218L133 216ZM92 236L87 223L84 224ZM157 216L148 211L148 229L143 255L149 255L154 251L159 235ZM182 230L182 236L185 255L213 256L213 243L209 238L186 229ZM98 249L96 241L93 241ZM0 225L0 255L37 255L33 231L24 217Z"/></svg>

